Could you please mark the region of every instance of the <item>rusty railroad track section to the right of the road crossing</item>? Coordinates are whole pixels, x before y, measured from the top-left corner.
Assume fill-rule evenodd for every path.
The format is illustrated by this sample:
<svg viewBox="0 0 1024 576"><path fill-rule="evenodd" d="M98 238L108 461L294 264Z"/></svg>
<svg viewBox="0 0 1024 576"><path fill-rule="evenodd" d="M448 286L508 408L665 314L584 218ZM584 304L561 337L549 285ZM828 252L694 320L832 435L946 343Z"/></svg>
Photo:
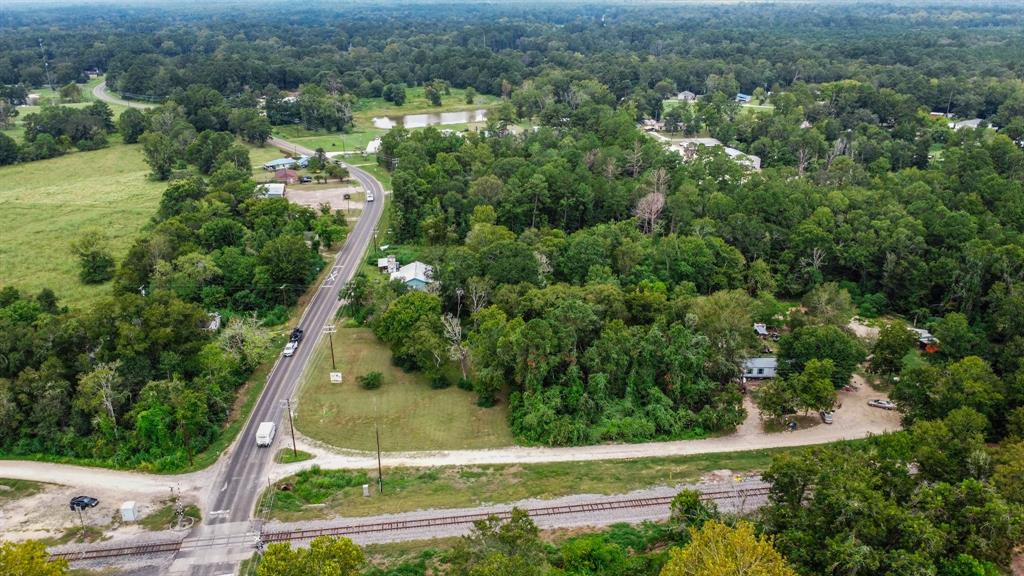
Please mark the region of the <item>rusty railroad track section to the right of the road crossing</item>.
<svg viewBox="0 0 1024 576"><path fill-rule="evenodd" d="M767 496L769 487L759 486L756 488L742 488L738 490L717 490L703 492L702 500L742 500L745 498ZM526 508L530 518L566 516L574 513L586 513L615 509L636 509L657 506L668 506L672 503L674 496L659 496L652 498L629 498L623 500L604 500L600 502L588 502L585 504L566 504L561 506L546 506L539 508ZM417 530L421 528L433 528L440 526L468 525L480 520L486 520L492 516L507 520L512 516L512 509L499 512L474 512L464 515L454 515L445 517L423 518L416 520L403 520L395 522L379 522L372 524L354 524L347 526L336 526L330 528L314 528L308 530L292 530L283 532L264 532L261 540L263 542L284 542L290 540L309 540L318 536L346 536L354 534L369 534L377 532L396 532L402 530Z"/></svg>

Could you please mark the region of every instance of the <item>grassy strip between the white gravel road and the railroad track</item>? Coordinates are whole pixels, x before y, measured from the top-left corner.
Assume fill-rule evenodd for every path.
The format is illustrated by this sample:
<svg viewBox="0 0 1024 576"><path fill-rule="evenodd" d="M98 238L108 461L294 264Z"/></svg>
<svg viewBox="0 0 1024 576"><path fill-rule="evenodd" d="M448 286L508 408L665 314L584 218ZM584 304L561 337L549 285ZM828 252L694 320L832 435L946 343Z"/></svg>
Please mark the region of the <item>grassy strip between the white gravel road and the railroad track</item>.
<svg viewBox="0 0 1024 576"><path fill-rule="evenodd" d="M774 455L792 449L753 450L633 460L594 460L541 464L463 465L384 469L384 495L362 496L376 488L376 474L312 467L278 483L271 518L299 521L374 516L427 508L456 508L556 498L571 494L618 494L694 482L718 469L759 471ZM264 494L264 497L266 495Z"/></svg>

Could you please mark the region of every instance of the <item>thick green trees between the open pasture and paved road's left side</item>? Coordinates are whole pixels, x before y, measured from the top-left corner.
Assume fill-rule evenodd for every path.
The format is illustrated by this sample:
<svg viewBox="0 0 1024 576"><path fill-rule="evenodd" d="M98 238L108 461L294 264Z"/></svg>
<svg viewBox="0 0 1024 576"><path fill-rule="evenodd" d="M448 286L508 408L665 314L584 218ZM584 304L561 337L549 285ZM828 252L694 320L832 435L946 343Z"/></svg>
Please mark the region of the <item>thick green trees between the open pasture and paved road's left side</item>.
<svg viewBox="0 0 1024 576"><path fill-rule="evenodd" d="M318 248L345 233L340 214L255 189L230 162L171 182L90 310L3 288L0 451L173 470L217 438L271 354L261 324L287 319L324 264ZM211 330L208 311L226 326Z"/></svg>

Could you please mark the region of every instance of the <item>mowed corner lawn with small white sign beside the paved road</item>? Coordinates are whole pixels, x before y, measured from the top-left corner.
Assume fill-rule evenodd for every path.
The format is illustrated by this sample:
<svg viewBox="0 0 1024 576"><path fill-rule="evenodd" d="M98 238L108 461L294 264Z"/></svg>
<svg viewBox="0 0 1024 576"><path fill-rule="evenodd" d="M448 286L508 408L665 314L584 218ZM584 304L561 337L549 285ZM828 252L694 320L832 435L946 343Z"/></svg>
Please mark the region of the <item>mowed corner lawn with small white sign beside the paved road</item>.
<svg viewBox="0 0 1024 576"><path fill-rule="evenodd" d="M314 337L309 334L305 345L313 345ZM339 448L374 450L376 422L385 451L513 444L504 405L480 408L472 393L456 386L432 389L422 375L393 366L390 349L369 329L339 327L334 347L343 383L330 381L327 338L317 344L302 377L296 425L309 438ZM364 389L357 376L373 371L383 374L383 385Z"/></svg>

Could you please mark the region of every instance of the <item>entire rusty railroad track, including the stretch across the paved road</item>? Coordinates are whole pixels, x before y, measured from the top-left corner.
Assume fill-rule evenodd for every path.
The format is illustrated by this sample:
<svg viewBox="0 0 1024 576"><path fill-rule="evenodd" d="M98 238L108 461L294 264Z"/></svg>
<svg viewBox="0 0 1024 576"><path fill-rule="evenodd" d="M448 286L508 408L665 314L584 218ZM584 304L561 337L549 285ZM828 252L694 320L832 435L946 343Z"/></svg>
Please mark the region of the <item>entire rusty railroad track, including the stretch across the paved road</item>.
<svg viewBox="0 0 1024 576"><path fill-rule="evenodd" d="M752 488L739 488L728 490L710 490L702 492L701 500L744 500L746 498L758 498L767 496L768 486L757 486ZM658 506L668 506L675 496L658 496L651 498L625 498L622 500L602 500L597 502L587 502L583 504L565 504L561 506L542 506L537 508L525 508L531 518L567 516L587 512L598 512L616 509L638 509ZM398 532L403 530L417 530L422 528L433 528L441 526L462 526L470 525L480 520L486 520L492 516L507 520L512 516L512 508L497 512L473 512L463 515L452 515L433 518L423 518L416 520L402 520L394 522L376 522L367 524L352 524L346 526L335 526L329 528L316 528L309 530L292 530L280 532L263 532L260 540L263 542L285 542L291 540L309 540L318 536L347 536L355 534L370 534L380 532ZM255 534L253 534L255 535ZM226 538L226 539L224 539ZM222 540L222 541L221 541ZM189 542L189 547L211 547L218 544L239 544L244 540L238 537L211 538ZM55 552L50 554L51 560L63 559L69 562L85 560L124 558L133 556L144 556L154 553L177 552L182 548L181 542L152 542L133 546L119 546L108 548L89 548L75 551Z"/></svg>

